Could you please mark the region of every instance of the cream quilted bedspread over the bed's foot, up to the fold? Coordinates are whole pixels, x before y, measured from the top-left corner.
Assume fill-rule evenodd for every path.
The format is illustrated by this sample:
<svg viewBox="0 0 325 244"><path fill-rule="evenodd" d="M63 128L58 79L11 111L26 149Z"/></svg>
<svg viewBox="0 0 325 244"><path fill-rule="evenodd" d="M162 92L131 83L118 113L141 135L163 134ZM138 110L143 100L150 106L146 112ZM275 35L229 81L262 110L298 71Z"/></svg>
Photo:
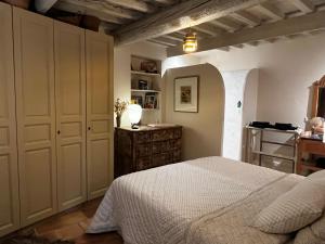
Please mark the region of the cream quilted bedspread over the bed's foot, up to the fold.
<svg viewBox="0 0 325 244"><path fill-rule="evenodd" d="M200 217L285 177L222 157L131 174L112 183L87 232L117 230L128 244L183 244L191 224Z"/></svg>

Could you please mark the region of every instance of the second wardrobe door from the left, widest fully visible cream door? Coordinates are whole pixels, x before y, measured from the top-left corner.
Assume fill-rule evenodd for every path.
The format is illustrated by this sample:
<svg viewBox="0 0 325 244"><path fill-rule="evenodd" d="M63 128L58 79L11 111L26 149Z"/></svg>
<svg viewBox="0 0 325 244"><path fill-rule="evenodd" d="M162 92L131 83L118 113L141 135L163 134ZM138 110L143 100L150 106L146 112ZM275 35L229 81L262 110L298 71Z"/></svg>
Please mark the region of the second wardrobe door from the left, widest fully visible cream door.
<svg viewBox="0 0 325 244"><path fill-rule="evenodd" d="M53 21L13 9L21 220L56 213Z"/></svg>

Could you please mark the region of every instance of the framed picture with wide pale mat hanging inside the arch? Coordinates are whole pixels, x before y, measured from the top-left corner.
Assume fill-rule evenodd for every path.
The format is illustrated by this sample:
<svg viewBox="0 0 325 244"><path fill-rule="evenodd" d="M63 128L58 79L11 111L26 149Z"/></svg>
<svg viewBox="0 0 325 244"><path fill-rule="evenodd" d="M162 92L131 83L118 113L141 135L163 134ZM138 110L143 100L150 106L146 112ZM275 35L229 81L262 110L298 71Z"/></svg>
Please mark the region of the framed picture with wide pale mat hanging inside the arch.
<svg viewBox="0 0 325 244"><path fill-rule="evenodd" d="M174 111L198 113L198 76L174 79Z"/></svg>

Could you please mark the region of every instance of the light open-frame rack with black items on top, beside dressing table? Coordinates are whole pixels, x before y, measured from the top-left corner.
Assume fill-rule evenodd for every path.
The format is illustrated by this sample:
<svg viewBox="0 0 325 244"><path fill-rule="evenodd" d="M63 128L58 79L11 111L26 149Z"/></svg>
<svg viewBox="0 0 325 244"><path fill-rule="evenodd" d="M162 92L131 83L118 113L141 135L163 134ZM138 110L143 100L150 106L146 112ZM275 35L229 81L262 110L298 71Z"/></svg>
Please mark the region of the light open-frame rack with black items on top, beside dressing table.
<svg viewBox="0 0 325 244"><path fill-rule="evenodd" d="M258 156L258 165L262 165L262 156L269 156L280 159L289 160L292 163L292 172L296 172L296 165L297 165L297 139L299 137L299 132L297 130L277 130L271 128L256 128L256 127L246 127L246 162L252 164L253 163L253 155ZM278 142L272 140L265 140L265 132L271 133L282 133L288 134L294 137L294 143L287 142ZM259 142L258 144L256 142ZM286 146L291 149L292 155L284 155L280 153L269 153L264 151L264 144L273 144L278 146ZM258 150L256 149L258 145Z"/></svg>

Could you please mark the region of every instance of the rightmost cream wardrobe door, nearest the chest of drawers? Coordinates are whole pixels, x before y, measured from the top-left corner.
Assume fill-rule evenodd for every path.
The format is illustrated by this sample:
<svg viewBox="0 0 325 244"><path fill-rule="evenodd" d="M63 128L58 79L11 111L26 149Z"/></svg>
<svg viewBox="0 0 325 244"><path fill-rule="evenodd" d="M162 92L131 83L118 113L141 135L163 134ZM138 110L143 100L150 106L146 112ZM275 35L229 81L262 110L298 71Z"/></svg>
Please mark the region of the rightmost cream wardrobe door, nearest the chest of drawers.
<svg viewBox="0 0 325 244"><path fill-rule="evenodd" d="M86 30L88 198L113 180L113 38Z"/></svg>

